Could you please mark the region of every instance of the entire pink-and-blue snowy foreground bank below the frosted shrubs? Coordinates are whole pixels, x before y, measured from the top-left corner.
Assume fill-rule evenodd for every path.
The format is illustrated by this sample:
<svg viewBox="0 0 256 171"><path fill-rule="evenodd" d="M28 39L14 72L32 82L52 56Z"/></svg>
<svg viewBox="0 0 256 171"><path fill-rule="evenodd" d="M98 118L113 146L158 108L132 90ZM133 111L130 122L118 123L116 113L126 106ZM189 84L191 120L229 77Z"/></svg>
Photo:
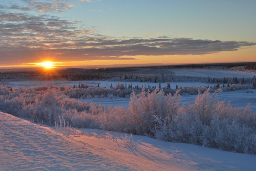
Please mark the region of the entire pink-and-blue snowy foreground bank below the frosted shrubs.
<svg viewBox="0 0 256 171"><path fill-rule="evenodd" d="M0 112L0 170L243 170L256 168L256 155L184 143L141 140L124 134L82 129L66 137L48 127Z"/></svg>

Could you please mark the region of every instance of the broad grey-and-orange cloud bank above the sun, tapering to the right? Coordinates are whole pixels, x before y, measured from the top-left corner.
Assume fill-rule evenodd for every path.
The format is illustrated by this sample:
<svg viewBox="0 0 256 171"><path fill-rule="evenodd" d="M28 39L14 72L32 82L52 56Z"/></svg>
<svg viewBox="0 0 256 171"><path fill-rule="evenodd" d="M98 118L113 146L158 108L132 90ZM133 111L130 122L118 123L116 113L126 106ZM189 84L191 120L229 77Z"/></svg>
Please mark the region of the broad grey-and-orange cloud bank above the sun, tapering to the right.
<svg viewBox="0 0 256 171"><path fill-rule="evenodd" d="M1 64L38 62L44 56L58 61L133 60L136 56L163 55L172 58L172 55L205 55L256 45L169 36L118 38L98 34L92 28L80 28L78 22L50 15L0 11Z"/></svg>

